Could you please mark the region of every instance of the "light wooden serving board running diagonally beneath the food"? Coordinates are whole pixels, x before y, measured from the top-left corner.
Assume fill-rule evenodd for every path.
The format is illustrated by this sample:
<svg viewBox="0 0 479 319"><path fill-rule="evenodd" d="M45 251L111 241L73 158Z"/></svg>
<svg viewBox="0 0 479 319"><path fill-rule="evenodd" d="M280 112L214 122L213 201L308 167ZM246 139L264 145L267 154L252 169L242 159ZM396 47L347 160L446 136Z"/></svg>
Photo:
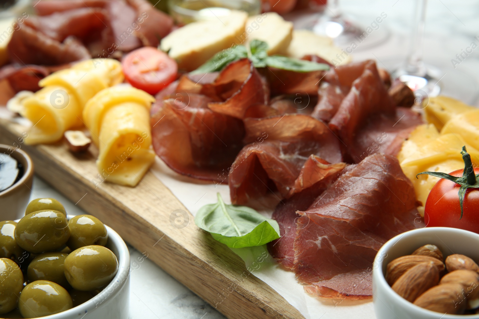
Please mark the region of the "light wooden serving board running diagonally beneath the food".
<svg viewBox="0 0 479 319"><path fill-rule="evenodd" d="M38 176L148 253L155 264L226 317L304 318L273 288L250 275L238 255L196 227L189 212L186 227L173 227L171 213L187 209L151 172L133 188L98 183L97 154L77 156L63 143L28 146L19 139L23 132L21 125L0 119L0 143L26 151Z"/></svg>

